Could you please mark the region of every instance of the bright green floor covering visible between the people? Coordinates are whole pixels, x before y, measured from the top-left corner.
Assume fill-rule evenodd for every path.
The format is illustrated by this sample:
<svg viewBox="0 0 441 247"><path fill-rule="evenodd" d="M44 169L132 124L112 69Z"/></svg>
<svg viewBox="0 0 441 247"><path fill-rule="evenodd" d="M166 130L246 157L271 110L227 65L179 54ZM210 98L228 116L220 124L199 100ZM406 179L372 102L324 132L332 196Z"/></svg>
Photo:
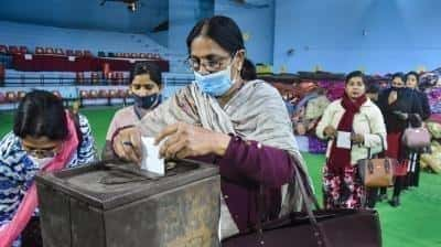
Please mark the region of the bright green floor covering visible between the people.
<svg viewBox="0 0 441 247"><path fill-rule="evenodd" d="M115 110L116 108L82 109L89 119L99 150L105 143ZM11 130L12 118L11 112L0 111L0 136ZM303 153L303 157L321 201L321 169L324 157L310 153ZM385 247L441 247L441 175L423 172L420 183L420 187L402 194L400 207L390 207L386 202L377 205Z"/></svg>

